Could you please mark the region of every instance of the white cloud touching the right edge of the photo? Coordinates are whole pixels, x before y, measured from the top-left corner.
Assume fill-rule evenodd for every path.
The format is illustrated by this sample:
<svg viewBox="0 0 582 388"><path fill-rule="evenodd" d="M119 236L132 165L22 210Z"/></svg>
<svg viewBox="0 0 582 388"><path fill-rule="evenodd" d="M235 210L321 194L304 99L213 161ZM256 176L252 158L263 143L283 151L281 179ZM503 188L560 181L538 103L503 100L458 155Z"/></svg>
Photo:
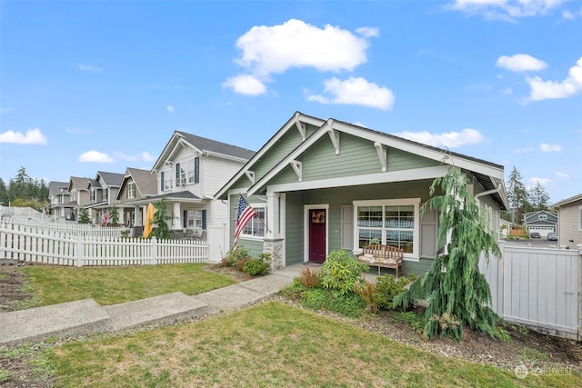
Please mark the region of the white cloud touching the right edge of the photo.
<svg viewBox="0 0 582 388"><path fill-rule="evenodd" d="M549 100L555 98L568 98L582 92L582 57L576 65L570 67L568 76L564 81L544 81L540 77L527 77L532 101Z"/></svg>

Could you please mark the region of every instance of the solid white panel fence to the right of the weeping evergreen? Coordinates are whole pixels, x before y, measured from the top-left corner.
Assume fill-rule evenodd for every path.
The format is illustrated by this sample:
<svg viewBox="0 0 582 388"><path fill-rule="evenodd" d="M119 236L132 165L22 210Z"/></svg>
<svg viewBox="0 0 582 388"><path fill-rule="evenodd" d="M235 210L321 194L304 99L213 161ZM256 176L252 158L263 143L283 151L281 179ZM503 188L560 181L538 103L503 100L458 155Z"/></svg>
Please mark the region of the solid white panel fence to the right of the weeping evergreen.
<svg viewBox="0 0 582 388"><path fill-rule="evenodd" d="M502 244L503 258L481 262L493 310L508 322L582 339L582 249Z"/></svg>

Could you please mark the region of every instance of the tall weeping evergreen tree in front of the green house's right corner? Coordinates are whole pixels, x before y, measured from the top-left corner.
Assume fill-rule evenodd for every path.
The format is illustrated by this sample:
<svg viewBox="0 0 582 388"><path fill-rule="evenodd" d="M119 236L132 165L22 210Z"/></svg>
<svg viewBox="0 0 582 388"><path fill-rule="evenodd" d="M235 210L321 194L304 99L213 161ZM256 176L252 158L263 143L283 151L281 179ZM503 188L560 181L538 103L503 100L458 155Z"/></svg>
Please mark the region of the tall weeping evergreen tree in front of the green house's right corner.
<svg viewBox="0 0 582 388"><path fill-rule="evenodd" d="M447 175L430 186L431 199L423 205L437 209L438 246L446 246L422 279L413 282L405 293L396 296L396 307L426 300L424 333L433 339L437 334L457 341L463 326L494 335L498 316L489 307L491 291L487 279L478 269L483 255L500 257L495 236L490 232L487 215L479 212L477 200L467 191L467 175L454 166ZM443 195L433 196L440 188Z"/></svg>

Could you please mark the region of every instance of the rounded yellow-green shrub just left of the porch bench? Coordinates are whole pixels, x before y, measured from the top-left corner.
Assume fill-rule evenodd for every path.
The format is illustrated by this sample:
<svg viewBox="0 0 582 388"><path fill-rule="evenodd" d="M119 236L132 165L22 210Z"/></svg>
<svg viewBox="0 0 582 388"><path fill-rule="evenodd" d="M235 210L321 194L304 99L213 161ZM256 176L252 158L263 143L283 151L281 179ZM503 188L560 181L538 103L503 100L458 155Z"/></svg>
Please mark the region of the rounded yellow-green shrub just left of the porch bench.
<svg viewBox="0 0 582 388"><path fill-rule="evenodd" d="M342 249L328 254L326 262L317 273L324 288L336 290L338 293L354 293L354 285L362 272L368 270L366 264L357 262Z"/></svg>

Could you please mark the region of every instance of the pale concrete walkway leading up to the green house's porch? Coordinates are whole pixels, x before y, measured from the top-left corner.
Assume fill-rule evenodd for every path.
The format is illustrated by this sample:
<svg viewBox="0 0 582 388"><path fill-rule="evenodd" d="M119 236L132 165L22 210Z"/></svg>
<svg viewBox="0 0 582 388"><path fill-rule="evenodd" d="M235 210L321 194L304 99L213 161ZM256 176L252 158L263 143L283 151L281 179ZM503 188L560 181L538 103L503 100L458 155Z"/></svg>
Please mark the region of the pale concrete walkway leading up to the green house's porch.
<svg viewBox="0 0 582 388"><path fill-rule="evenodd" d="M188 296L167 293L134 302L101 306L93 299L0 313L0 346L106 333L150 323L219 313L274 294L291 284L304 264L290 265L266 276Z"/></svg>

